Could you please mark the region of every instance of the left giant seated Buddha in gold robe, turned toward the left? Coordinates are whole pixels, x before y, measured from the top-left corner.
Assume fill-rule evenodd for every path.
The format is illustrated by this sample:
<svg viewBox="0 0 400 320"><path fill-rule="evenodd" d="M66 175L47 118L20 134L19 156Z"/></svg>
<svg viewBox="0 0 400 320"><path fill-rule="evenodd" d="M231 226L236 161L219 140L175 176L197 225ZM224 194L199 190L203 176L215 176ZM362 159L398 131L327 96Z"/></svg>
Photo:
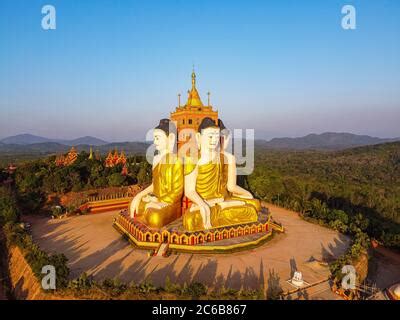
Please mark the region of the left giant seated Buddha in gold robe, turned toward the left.
<svg viewBox="0 0 400 320"><path fill-rule="evenodd" d="M153 179L150 186L132 200L132 218L150 228L161 228L180 217L184 175L182 161L174 153L176 128L169 119L160 120L153 139L157 154L153 159Z"/></svg>

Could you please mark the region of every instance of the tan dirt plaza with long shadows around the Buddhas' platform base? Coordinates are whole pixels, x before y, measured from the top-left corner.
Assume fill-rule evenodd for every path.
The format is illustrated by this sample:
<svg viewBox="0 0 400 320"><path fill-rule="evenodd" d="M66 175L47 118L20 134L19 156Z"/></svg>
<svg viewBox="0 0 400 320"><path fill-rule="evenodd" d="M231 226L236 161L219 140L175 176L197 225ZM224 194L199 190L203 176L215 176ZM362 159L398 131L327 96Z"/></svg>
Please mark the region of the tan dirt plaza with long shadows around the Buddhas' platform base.
<svg viewBox="0 0 400 320"><path fill-rule="evenodd" d="M330 260L342 254L349 238L327 228L308 223L295 212L268 205L284 234L253 250L234 254L178 254L167 258L149 257L132 248L112 227L117 212L48 220L26 217L32 223L33 239L47 252L64 253L71 277L87 272L100 280L119 278L136 283L151 279L164 285L200 281L209 287L259 289L279 286L293 290L287 280L301 271L312 284L329 276L327 267L315 260ZM326 292L324 298L326 298ZM313 298L318 298L313 296Z"/></svg>

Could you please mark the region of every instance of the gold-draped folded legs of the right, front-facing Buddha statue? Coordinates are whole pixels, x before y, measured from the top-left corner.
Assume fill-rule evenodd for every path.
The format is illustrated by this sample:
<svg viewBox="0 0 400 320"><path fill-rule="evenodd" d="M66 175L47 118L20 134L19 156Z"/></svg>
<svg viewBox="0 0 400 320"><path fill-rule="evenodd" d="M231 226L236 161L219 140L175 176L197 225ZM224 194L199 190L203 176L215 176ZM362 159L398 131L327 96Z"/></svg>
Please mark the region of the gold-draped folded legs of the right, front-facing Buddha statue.
<svg viewBox="0 0 400 320"><path fill-rule="evenodd" d="M211 225L213 228L256 222L258 211L251 204L221 209L219 205L211 207ZM200 210L187 210L183 216L183 227L188 231L204 230Z"/></svg>

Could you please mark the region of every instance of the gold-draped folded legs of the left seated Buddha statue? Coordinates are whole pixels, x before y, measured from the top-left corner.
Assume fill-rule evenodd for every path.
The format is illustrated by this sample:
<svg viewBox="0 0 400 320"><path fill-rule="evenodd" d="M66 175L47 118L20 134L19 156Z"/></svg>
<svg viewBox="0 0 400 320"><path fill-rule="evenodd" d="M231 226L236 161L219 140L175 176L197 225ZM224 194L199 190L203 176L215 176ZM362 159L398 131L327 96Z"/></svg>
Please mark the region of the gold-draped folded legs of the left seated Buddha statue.
<svg viewBox="0 0 400 320"><path fill-rule="evenodd" d="M150 228L162 228L179 217L180 203L170 204L158 209L147 207L148 202L140 201L137 219Z"/></svg>

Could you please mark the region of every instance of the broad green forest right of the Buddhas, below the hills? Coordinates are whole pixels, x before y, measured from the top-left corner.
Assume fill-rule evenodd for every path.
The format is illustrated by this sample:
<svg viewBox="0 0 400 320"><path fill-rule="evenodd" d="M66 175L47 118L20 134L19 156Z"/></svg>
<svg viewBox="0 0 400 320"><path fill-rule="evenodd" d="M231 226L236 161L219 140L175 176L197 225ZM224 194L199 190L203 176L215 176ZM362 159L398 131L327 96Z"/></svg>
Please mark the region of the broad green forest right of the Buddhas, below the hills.
<svg viewBox="0 0 400 320"><path fill-rule="evenodd" d="M256 150L258 198L349 234L400 248L400 142L342 151Z"/></svg>

